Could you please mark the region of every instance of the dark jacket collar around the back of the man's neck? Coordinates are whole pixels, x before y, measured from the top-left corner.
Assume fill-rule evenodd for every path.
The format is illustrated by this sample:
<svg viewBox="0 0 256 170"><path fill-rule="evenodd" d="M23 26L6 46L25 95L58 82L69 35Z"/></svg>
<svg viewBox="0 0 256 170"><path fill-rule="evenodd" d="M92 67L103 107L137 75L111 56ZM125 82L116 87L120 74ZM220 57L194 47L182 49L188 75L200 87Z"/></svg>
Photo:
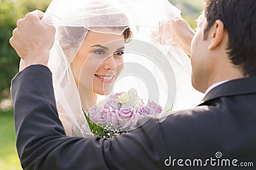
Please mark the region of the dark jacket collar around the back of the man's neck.
<svg viewBox="0 0 256 170"><path fill-rule="evenodd" d="M211 91L209 91L209 93L207 93L203 100L200 102L200 105L215 98L228 97L233 95L246 95L250 93L256 93L256 77L235 79L211 89Z"/></svg>

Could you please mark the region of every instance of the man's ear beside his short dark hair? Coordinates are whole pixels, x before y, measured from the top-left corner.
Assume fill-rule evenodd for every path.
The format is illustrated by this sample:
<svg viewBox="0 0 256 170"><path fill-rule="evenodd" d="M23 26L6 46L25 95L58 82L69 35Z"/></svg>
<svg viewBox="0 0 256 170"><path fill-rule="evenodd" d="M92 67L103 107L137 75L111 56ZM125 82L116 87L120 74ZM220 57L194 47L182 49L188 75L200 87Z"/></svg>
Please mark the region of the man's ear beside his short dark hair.
<svg viewBox="0 0 256 170"><path fill-rule="evenodd" d="M213 50L220 45L225 38L225 27L221 20L216 20L211 28L210 38L211 43L208 46L209 50Z"/></svg>

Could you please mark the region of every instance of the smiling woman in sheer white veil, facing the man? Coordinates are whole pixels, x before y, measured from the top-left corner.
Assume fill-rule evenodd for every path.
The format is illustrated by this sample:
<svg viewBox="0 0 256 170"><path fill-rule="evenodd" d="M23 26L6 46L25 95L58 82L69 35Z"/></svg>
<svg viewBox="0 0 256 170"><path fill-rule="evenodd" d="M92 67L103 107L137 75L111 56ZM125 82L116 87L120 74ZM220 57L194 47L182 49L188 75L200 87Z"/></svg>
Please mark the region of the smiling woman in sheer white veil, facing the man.
<svg viewBox="0 0 256 170"><path fill-rule="evenodd" d="M43 17L56 27L48 67L67 135L92 135L82 108L88 111L113 91L134 88L143 101L157 100L164 111L199 103L189 58L163 30L179 19L180 11L167 0L51 2ZM198 101L189 101L189 95Z"/></svg>

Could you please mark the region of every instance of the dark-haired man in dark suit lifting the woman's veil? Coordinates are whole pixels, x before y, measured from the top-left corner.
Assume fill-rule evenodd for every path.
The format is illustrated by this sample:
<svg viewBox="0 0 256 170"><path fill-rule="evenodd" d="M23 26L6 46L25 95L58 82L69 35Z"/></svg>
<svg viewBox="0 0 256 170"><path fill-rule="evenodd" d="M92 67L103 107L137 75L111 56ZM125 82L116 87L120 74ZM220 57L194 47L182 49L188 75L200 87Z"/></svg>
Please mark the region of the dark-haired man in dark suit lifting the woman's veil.
<svg viewBox="0 0 256 170"><path fill-rule="evenodd" d="M205 0L191 43L193 86L205 93L200 105L113 139L65 136L44 66L54 27L40 22L42 14L19 20L10 39L28 66L11 90L24 169L256 168L255 0ZM177 33L182 46L187 31Z"/></svg>

